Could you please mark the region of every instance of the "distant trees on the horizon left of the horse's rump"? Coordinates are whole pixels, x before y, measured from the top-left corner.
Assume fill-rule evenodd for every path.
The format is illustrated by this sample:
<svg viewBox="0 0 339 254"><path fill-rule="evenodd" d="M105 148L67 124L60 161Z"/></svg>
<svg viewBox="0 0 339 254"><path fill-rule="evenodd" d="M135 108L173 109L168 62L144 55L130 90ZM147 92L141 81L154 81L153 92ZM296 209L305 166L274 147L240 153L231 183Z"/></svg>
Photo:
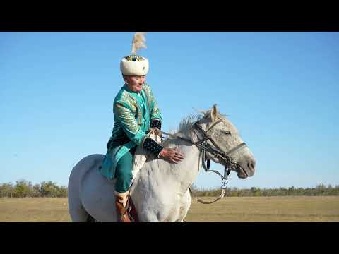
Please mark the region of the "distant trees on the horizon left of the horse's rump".
<svg viewBox="0 0 339 254"><path fill-rule="evenodd" d="M32 185L30 181L18 180L15 184L0 183L0 198L64 198L67 188L52 181Z"/></svg>

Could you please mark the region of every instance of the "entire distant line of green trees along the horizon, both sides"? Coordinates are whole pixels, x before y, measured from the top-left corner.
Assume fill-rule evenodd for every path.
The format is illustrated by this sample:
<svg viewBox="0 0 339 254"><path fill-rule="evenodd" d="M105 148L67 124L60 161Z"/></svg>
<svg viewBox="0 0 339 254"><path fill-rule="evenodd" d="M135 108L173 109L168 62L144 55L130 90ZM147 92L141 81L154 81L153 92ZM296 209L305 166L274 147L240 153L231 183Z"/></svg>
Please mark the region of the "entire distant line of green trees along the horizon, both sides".
<svg viewBox="0 0 339 254"><path fill-rule="evenodd" d="M203 189L192 186L194 194L201 197L220 195L220 188ZM268 197L279 195L339 195L338 186L319 184L315 188L227 188L227 197ZM0 198L66 198L67 188L52 181L33 185L30 181L18 180L13 183L0 183Z"/></svg>

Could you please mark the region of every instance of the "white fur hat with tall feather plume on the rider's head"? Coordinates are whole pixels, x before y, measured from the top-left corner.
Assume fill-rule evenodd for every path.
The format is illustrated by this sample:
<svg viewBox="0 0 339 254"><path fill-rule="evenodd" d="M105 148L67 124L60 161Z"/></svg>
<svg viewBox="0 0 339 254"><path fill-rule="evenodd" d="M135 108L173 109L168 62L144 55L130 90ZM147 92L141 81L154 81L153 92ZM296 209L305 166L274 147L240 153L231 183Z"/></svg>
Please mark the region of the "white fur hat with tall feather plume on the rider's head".
<svg viewBox="0 0 339 254"><path fill-rule="evenodd" d="M126 56L120 61L120 70L124 75L147 75L149 63L148 59L136 55L136 51L146 47L146 32L136 32L133 36L131 56Z"/></svg>

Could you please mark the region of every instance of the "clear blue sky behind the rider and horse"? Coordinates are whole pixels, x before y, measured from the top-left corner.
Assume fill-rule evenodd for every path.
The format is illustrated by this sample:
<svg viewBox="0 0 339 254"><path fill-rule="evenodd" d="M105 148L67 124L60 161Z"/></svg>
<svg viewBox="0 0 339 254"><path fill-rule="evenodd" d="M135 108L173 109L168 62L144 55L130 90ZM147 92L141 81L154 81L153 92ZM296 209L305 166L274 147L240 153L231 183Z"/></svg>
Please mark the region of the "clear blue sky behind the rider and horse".
<svg viewBox="0 0 339 254"><path fill-rule="evenodd" d="M67 186L105 154L133 32L0 32L0 183ZM256 157L229 187L339 184L338 32L148 32L148 83L163 131L218 104ZM218 164L215 169L222 170ZM221 185L201 170L202 188Z"/></svg>

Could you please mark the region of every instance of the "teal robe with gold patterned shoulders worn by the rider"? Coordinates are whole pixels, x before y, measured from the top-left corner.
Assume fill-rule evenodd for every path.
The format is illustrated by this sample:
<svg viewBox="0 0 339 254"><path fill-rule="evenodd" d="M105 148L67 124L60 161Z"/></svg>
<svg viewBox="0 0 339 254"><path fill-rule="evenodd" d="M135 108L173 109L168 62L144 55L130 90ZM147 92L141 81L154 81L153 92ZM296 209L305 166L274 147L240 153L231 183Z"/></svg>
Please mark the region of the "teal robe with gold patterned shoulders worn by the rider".
<svg viewBox="0 0 339 254"><path fill-rule="evenodd" d="M126 152L142 145L152 120L162 120L153 92L148 84L141 92L132 92L125 84L121 87L113 104L114 127L102 160L100 173L113 179L117 163ZM121 143L124 143L121 145Z"/></svg>

